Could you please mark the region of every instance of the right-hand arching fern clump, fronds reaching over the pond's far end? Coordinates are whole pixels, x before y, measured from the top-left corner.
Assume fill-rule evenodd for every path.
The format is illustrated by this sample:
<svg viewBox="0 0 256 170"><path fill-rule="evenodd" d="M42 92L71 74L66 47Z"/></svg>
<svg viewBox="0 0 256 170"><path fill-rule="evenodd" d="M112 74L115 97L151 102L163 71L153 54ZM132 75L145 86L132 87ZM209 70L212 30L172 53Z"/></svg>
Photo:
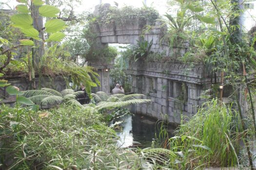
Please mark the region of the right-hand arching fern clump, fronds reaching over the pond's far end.
<svg viewBox="0 0 256 170"><path fill-rule="evenodd" d="M114 94L114 95L108 95L105 92L99 91L97 93L92 93L91 96L94 99L95 105L89 104L84 105L87 106L93 106L98 111L102 111L104 109L112 110L115 108L120 108L123 106L128 106L130 104L143 104L150 102L150 100L142 99L145 97L143 94Z"/></svg>

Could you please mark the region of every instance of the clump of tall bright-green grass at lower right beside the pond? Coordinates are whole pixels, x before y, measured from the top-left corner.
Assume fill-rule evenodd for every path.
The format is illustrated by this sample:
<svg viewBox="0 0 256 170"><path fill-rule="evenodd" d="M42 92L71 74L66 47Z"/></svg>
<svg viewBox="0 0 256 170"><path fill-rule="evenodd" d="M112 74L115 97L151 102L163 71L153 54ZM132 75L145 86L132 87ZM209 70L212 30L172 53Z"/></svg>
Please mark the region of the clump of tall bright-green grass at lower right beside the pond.
<svg viewBox="0 0 256 170"><path fill-rule="evenodd" d="M214 99L205 103L188 122L182 121L177 136L169 139L171 150L180 155L177 168L239 166L238 119L232 105Z"/></svg>

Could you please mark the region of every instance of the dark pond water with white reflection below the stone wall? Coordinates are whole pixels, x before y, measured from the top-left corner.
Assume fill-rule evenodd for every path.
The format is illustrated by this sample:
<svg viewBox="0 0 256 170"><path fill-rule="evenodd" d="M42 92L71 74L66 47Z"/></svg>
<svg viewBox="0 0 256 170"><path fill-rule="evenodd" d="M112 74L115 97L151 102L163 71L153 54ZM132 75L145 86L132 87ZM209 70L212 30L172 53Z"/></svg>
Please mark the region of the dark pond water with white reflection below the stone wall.
<svg viewBox="0 0 256 170"><path fill-rule="evenodd" d="M116 119L116 121L122 121L120 128L116 130L119 136L118 146L121 148L131 146L151 147L152 141L159 133L159 121L143 115L126 115ZM168 126L169 136L174 136L175 128L174 126Z"/></svg>

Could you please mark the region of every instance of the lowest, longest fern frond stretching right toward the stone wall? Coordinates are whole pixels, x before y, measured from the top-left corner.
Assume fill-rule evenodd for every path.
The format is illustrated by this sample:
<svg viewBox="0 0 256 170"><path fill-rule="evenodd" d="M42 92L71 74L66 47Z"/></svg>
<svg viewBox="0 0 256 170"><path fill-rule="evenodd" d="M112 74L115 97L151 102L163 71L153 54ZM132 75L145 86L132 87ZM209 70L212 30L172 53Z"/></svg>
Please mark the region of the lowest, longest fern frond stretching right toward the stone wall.
<svg viewBox="0 0 256 170"><path fill-rule="evenodd" d="M101 102L95 108L98 110L114 109L116 107L128 106L130 104L143 104L143 103L147 103L150 101L151 100L147 100L147 99L134 99L134 100L129 100L129 101L121 101L121 102Z"/></svg>

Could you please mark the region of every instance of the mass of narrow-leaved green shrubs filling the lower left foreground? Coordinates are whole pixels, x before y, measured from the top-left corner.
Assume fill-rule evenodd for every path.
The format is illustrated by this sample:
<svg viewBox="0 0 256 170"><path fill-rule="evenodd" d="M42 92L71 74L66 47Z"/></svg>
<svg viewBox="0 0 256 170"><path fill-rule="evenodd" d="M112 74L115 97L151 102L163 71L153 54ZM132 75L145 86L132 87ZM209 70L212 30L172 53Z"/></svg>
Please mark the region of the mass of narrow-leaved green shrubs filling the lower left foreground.
<svg viewBox="0 0 256 170"><path fill-rule="evenodd" d="M97 110L62 104L41 112L1 105L1 169L168 169L177 154L161 148L119 148Z"/></svg>

